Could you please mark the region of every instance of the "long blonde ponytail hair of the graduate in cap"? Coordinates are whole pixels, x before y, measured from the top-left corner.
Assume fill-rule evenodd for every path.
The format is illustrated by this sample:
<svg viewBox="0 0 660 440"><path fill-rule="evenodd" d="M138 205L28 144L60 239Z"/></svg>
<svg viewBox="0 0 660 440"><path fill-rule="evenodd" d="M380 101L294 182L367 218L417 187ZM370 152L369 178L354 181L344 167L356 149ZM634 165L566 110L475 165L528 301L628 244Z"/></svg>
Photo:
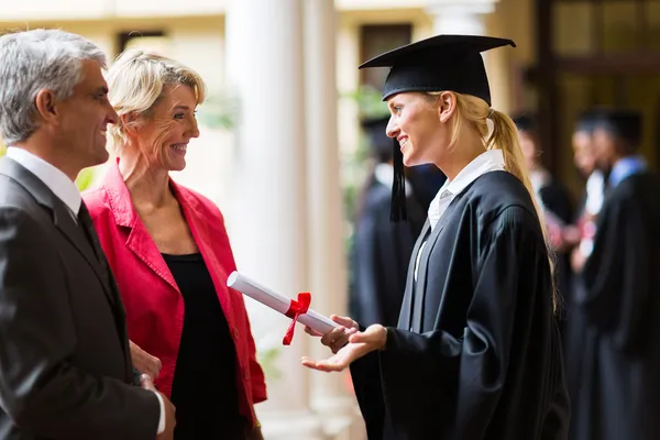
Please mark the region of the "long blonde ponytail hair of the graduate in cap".
<svg viewBox="0 0 660 440"><path fill-rule="evenodd" d="M442 92L438 91L428 92L427 95L430 99L437 100L441 94ZM471 95L461 95L457 92L452 94L454 94L457 97L457 111L452 118L452 136L449 147L452 148L457 145L463 121L466 120L471 122L474 124L481 138L484 140L485 150L502 150L504 156L504 168L508 173L516 176L522 183L522 185L525 185L525 188L527 188L527 191L531 197L531 202L534 204L541 226L541 232L546 243L546 252L548 253L548 261L550 262L550 271L552 274L552 306L557 312L559 310L561 299L554 283L554 254L549 245L546 222L543 220L543 211L537 202L534 187L531 186L531 182L527 175L516 124L505 113L488 107L486 101L483 99L473 97ZM493 121L493 132L490 136L487 123L488 119Z"/></svg>

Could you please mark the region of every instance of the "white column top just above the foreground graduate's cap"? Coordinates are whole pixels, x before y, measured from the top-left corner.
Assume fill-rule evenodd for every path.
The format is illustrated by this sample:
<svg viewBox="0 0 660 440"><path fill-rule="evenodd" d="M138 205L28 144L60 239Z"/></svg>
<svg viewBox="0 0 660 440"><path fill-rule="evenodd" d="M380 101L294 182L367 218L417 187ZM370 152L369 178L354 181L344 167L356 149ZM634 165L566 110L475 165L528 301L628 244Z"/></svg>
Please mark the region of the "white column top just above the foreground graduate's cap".
<svg viewBox="0 0 660 440"><path fill-rule="evenodd" d="M435 34L485 35L484 16L497 0L428 0Z"/></svg>

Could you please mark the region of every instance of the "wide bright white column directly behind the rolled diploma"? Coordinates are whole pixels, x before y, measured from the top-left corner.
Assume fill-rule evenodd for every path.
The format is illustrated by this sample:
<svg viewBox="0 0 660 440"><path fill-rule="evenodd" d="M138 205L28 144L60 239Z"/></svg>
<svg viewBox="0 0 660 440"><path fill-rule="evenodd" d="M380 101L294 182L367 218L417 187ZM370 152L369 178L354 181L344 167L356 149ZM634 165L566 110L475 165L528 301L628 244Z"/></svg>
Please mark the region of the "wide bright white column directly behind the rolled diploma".
<svg viewBox="0 0 660 440"><path fill-rule="evenodd" d="M239 268L284 295L308 292L302 0L233 0L227 13L227 68L240 100L229 233ZM222 147L219 145L218 147ZM246 298L257 345L279 349L270 399L257 406L268 440L321 440L309 409L308 338L300 327Z"/></svg>

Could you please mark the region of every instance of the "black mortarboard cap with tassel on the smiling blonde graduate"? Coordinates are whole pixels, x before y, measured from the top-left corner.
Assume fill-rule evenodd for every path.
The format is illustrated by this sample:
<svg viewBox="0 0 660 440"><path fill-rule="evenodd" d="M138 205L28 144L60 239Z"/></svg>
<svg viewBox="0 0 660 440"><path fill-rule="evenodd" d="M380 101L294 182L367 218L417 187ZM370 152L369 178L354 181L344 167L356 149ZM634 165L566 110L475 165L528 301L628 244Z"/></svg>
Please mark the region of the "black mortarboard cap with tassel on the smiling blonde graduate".
<svg viewBox="0 0 660 440"><path fill-rule="evenodd" d="M389 67L383 100L404 91L455 91L491 106L491 88L482 52L510 45L512 40L477 35L437 35L378 55L360 68ZM403 154L394 142L392 221L406 219Z"/></svg>

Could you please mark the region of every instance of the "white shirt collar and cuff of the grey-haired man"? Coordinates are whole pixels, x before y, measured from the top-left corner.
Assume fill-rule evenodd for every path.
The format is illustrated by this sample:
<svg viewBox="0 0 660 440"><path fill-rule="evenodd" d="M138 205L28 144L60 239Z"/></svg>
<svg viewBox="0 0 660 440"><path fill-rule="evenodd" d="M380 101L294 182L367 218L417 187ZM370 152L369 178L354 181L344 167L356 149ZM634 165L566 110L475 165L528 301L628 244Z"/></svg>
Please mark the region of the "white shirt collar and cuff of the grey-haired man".
<svg viewBox="0 0 660 440"><path fill-rule="evenodd" d="M7 157L18 162L43 182L70 210L74 221L78 221L78 211L80 210L82 198L80 197L80 191L76 184L68 178L66 174L43 158L16 146L7 148ZM161 406L161 419L158 420L157 433L162 433L165 430L165 404L158 393L156 393L156 397L158 398L158 404Z"/></svg>

